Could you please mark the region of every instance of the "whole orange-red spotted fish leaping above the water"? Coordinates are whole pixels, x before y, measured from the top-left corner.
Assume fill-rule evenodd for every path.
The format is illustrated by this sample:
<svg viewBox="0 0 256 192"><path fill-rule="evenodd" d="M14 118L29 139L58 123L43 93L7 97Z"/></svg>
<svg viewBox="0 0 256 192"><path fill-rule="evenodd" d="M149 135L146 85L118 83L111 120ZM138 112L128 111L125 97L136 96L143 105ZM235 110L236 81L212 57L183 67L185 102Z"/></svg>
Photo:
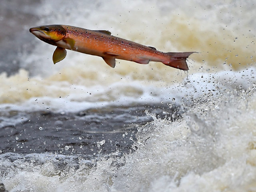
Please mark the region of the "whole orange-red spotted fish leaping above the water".
<svg viewBox="0 0 256 192"><path fill-rule="evenodd" d="M106 30L88 30L67 25L46 25L29 30L40 40L57 46L52 60L60 62L66 57L66 49L100 56L112 68L116 59L148 64L162 62L167 66L188 70L186 58L194 52L160 52L154 47L144 46L112 36Z"/></svg>

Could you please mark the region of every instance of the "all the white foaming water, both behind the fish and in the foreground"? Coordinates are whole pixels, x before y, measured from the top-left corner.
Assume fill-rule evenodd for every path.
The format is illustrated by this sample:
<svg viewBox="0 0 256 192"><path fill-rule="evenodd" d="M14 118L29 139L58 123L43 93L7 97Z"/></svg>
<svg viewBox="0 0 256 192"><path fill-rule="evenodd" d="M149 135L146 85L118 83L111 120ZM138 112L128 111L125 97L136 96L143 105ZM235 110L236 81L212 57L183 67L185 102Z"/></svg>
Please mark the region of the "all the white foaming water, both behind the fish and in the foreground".
<svg viewBox="0 0 256 192"><path fill-rule="evenodd" d="M182 105L185 113L175 122L153 114L153 122L139 127L135 152L102 158L92 168L82 160L78 170L73 165L62 170L51 160L38 165L33 158L2 159L7 190L255 190L254 0L91 4L45 0L37 12L42 20L35 25L110 30L161 51L200 53L191 55L187 78L156 63L118 61L112 69L101 58L71 51L53 65L54 47L35 38L38 46L24 55L20 73L0 76L0 110L76 112L164 102Z"/></svg>

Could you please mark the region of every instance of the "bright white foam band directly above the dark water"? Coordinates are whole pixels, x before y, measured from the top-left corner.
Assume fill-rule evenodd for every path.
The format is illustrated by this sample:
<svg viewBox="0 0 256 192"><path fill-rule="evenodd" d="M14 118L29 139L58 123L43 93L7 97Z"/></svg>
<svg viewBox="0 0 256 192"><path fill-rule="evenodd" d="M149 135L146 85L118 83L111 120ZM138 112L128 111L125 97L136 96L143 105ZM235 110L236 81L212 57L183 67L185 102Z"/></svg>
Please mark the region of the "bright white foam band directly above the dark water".
<svg viewBox="0 0 256 192"><path fill-rule="evenodd" d="M166 86L166 82L151 83L126 79L125 84L122 81L113 82L107 88L100 85L88 87L63 82L55 82L55 85L48 82L43 85L44 80L40 80L41 82L37 80L35 88L40 90L39 85L42 84L41 86L44 86L44 90L47 92L44 91L41 96L22 100L15 104L1 104L0 109L30 112L36 110L78 112L88 108L132 103L164 102L180 105L183 100L191 100L191 98L197 98L204 94L219 94L220 88L224 90L240 86L240 88L247 89L250 85L255 84L255 74L255 68L237 72L197 73L189 75L181 83L170 86ZM29 86L33 89L34 85ZM26 93L24 90L25 96ZM44 94L49 94L49 96L44 96Z"/></svg>

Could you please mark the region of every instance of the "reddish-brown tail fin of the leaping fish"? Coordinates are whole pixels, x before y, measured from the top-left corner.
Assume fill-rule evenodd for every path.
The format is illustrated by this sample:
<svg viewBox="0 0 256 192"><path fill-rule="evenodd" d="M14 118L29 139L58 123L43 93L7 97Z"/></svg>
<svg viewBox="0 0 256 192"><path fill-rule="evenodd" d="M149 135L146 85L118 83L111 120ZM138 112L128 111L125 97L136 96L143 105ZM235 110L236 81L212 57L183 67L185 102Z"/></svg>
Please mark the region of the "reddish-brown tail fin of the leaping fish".
<svg viewBox="0 0 256 192"><path fill-rule="evenodd" d="M195 52L180 52L180 53L168 52L166 54L170 56L170 60L168 62L163 62L163 64L177 68L177 69L188 70L186 59L192 53L195 53Z"/></svg>

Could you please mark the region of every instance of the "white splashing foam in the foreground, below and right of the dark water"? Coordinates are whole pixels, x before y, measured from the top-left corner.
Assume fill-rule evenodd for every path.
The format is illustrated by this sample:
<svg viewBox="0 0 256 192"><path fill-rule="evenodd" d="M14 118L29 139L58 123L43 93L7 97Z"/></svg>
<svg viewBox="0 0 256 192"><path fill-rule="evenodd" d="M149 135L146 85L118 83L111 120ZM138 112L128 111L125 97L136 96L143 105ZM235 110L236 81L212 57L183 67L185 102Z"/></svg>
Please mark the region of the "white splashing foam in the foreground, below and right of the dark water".
<svg viewBox="0 0 256 192"><path fill-rule="evenodd" d="M35 165L29 157L2 158L9 167L3 182L6 189L58 192L250 191L256 184L255 112L256 86L223 88L194 99L175 122L149 114L154 120L139 127L136 151L124 157L102 157L91 168L78 160L78 170L74 163L62 170L53 155Z"/></svg>

